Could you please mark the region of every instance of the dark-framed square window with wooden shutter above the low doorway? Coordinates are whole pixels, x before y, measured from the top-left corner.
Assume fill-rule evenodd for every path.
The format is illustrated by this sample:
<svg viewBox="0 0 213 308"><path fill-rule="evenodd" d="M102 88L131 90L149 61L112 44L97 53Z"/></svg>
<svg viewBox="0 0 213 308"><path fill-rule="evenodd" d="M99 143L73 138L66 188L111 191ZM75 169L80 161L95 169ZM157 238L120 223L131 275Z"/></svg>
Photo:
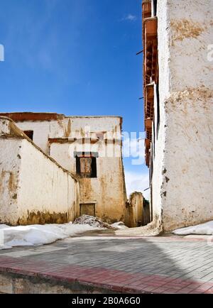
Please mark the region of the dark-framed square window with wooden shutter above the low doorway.
<svg viewBox="0 0 213 308"><path fill-rule="evenodd" d="M97 153L74 153L76 173L81 177L97 177Z"/></svg>

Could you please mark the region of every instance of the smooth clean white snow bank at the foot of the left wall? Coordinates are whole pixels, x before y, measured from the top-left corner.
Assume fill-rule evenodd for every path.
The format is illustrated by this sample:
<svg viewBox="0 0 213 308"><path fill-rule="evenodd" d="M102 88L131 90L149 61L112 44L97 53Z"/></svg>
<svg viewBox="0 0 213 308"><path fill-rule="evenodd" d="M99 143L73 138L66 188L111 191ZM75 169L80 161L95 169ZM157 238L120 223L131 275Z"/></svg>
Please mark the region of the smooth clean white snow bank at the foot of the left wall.
<svg viewBox="0 0 213 308"><path fill-rule="evenodd" d="M38 246L54 243L62 238L85 231L99 230L89 224L45 224L31 226L6 226L0 224L0 249L13 246Z"/></svg>

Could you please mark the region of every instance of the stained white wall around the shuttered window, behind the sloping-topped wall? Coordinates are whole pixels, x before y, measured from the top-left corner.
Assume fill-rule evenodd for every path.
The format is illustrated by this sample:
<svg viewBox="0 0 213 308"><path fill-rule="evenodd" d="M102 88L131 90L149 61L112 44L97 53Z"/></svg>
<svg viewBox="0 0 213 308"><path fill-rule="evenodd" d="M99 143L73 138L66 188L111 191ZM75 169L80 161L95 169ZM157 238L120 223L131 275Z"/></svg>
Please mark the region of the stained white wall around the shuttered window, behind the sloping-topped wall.
<svg viewBox="0 0 213 308"><path fill-rule="evenodd" d="M121 142L108 147L104 138L121 138L121 118L116 116L67 116L51 121L16 122L22 131L33 131L33 142L53 157L66 170L76 173L74 152L99 153L97 178L79 179L80 202L95 202L96 215L107 221L124 221L126 187L121 157ZM82 145L82 138L91 133L99 142ZM116 134L118 134L116 136ZM67 143L49 143L49 138L68 138ZM73 138L77 141L72 142ZM112 148L116 155L113 155ZM115 157L116 156L116 157Z"/></svg>

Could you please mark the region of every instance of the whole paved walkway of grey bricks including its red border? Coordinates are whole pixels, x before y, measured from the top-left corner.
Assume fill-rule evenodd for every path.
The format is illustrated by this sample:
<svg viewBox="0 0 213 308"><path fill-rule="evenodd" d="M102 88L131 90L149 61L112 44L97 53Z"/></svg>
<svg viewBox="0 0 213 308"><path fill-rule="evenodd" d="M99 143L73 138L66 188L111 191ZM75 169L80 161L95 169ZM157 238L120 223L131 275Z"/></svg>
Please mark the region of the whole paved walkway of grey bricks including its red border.
<svg viewBox="0 0 213 308"><path fill-rule="evenodd" d="M213 294L213 242L199 236L89 234L0 251L4 273L79 282L111 292Z"/></svg>

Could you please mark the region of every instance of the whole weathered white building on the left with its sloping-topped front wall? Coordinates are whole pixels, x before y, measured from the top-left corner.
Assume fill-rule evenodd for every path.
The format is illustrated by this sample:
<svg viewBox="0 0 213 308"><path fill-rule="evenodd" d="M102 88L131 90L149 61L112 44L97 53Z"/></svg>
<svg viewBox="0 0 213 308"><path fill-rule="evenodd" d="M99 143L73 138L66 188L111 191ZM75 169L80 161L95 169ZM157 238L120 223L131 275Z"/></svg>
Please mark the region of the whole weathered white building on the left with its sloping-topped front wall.
<svg viewBox="0 0 213 308"><path fill-rule="evenodd" d="M124 221L122 119L13 113L0 118L0 223L89 214Z"/></svg>

